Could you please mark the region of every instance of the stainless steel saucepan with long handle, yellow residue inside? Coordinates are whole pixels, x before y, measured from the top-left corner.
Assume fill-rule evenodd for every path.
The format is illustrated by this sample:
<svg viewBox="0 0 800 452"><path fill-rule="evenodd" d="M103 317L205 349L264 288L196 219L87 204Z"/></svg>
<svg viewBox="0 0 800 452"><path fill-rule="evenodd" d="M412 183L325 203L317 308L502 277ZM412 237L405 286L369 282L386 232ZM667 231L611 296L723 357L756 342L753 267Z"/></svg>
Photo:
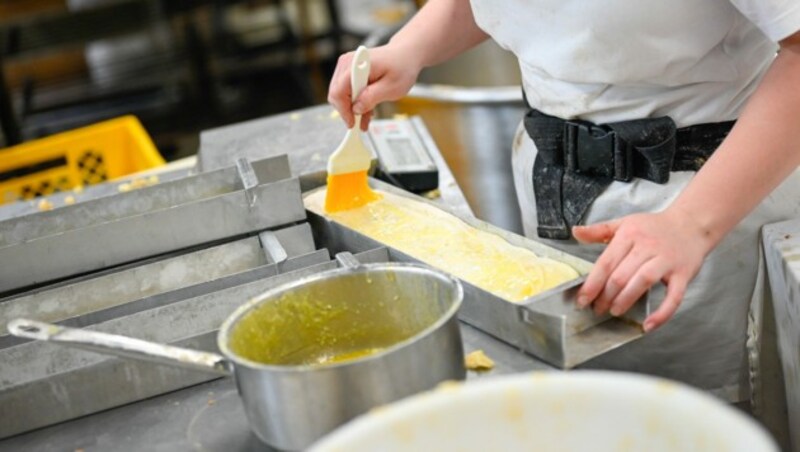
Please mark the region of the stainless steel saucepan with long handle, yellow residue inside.
<svg viewBox="0 0 800 452"><path fill-rule="evenodd" d="M350 263L245 303L222 354L17 319L8 330L101 353L233 375L251 429L286 450L372 407L465 376L458 280L412 264Z"/></svg>

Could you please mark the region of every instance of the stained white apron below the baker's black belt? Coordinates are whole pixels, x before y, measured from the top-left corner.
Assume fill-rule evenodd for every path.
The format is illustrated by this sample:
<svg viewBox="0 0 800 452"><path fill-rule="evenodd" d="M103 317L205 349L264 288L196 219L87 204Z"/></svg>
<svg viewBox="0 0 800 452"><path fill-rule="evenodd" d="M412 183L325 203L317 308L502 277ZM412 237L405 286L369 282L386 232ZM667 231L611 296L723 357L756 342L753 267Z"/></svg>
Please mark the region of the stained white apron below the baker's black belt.
<svg viewBox="0 0 800 452"><path fill-rule="evenodd" d="M546 240L536 235L532 181L535 156L536 147L520 125L514 140L512 165L525 235L595 261L603 245ZM673 172L664 185L641 179L613 182L589 208L585 224L663 210L694 174ZM648 373L711 391L731 402L749 400L750 369L758 363L748 360L748 316L760 316L763 293L755 288L765 271L759 255L759 232L764 224L798 216L800 175L793 173L712 251L667 324L582 367ZM650 296L655 309L664 298L664 286L656 286ZM753 313L751 305L756 308ZM755 357L757 354L751 358Z"/></svg>

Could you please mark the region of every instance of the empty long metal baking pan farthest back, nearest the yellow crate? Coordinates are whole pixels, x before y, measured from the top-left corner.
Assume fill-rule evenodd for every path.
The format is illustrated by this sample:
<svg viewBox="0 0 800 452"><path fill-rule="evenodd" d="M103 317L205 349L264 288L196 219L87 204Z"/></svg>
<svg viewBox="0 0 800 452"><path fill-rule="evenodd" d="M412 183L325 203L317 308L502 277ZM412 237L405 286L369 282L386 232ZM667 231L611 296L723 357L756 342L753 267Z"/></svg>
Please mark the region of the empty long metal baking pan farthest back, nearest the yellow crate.
<svg viewBox="0 0 800 452"><path fill-rule="evenodd" d="M0 294L305 219L285 155L0 221Z"/></svg>

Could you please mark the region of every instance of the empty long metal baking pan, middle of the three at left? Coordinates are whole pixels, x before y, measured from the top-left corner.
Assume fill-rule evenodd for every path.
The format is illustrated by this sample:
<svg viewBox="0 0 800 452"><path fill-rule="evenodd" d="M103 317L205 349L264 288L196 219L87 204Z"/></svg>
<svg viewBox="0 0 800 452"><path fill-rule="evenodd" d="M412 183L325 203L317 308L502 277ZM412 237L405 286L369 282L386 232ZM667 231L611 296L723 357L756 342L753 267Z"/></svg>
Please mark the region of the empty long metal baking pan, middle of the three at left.
<svg viewBox="0 0 800 452"><path fill-rule="evenodd" d="M6 330L15 318L84 327L330 259L327 250L315 250L308 223L271 234L274 243L252 236L0 299L0 349L24 342ZM274 249L282 252L277 259Z"/></svg>

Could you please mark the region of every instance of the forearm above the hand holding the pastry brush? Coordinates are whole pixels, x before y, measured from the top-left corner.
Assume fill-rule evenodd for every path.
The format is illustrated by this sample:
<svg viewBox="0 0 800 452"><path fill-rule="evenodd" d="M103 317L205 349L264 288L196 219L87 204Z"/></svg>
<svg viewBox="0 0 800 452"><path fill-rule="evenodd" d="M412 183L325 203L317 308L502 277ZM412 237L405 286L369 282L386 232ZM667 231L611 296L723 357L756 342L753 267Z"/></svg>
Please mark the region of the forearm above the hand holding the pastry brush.
<svg viewBox="0 0 800 452"><path fill-rule="evenodd" d="M469 0L430 0L392 37L390 44L409 49L420 67L446 61L488 35L475 23Z"/></svg>

